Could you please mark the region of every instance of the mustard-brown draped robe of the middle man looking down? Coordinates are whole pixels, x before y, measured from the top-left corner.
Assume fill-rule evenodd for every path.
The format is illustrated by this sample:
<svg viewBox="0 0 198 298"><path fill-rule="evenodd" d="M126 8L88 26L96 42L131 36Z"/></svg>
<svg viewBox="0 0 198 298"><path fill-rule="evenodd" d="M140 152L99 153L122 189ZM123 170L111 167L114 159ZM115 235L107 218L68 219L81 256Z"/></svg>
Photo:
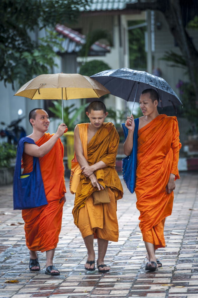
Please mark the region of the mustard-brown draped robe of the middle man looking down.
<svg viewBox="0 0 198 298"><path fill-rule="evenodd" d="M88 123L78 124L81 142L87 144ZM83 148L85 145L83 144ZM97 190L89 178L81 173L75 195L74 224L80 229L82 237L94 233L95 238L118 241L118 222L116 215L116 201L123 196L123 188L118 173L115 170L116 155L119 145L119 135L113 123L103 123L91 141L87 144L87 161L89 165L103 161L106 167L94 172L99 183L108 187L110 203L93 204L92 193Z"/></svg>

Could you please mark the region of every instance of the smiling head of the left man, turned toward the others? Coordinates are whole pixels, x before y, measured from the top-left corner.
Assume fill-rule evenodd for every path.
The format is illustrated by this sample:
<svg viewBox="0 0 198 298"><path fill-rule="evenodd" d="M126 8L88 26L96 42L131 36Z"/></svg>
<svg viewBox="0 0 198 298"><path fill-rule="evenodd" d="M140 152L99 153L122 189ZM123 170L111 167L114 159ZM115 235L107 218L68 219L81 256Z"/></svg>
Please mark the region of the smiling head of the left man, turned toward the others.
<svg viewBox="0 0 198 298"><path fill-rule="evenodd" d="M40 132L46 132L49 128L49 116L44 110L36 110L35 119L30 119L34 129Z"/></svg>

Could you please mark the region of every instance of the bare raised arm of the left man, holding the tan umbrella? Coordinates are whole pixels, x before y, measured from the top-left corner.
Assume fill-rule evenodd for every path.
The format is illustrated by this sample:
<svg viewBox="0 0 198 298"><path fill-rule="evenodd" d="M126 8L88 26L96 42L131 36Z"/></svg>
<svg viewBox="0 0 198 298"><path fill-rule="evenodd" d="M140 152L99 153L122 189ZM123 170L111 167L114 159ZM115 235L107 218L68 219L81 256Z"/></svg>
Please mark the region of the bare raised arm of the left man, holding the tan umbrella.
<svg viewBox="0 0 198 298"><path fill-rule="evenodd" d="M61 123L57 129L57 132L43 145L40 147L35 144L24 143L24 152L28 155L35 157L43 157L45 156L54 146L56 141L63 135L66 129L66 125Z"/></svg>

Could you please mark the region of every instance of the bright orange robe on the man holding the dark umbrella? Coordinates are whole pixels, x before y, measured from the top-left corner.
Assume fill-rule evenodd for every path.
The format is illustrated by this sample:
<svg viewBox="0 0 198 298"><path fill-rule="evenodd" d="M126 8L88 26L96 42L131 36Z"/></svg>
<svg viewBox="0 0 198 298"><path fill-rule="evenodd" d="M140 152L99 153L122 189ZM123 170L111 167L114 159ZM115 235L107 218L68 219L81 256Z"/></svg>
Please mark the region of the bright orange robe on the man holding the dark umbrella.
<svg viewBox="0 0 198 298"><path fill-rule="evenodd" d="M172 213L173 191L166 193L170 173L180 179L179 129L176 117L157 116L138 130L135 193L143 240L155 249L165 247L165 218Z"/></svg>

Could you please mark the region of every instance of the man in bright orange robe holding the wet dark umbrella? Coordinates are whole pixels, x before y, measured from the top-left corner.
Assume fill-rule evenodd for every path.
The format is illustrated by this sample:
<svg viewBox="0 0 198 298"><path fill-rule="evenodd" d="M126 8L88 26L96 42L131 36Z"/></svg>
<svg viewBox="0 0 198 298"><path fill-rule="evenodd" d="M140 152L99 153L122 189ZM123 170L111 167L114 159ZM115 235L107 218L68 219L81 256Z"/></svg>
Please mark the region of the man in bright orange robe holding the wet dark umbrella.
<svg viewBox="0 0 198 298"><path fill-rule="evenodd" d="M135 181L136 206L140 211L139 227L149 259L145 269L150 271L162 266L155 257L155 250L165 247L165 218L172 213L175 180L180 179L177 164L181 144L177 118L159 115L158 100L158 93L154 89L146 89L140 96L140 108L144 116L139 118ZM127 117L125 126L129 132L124 153L129 156L135 128L132 115Z"/></svg>

